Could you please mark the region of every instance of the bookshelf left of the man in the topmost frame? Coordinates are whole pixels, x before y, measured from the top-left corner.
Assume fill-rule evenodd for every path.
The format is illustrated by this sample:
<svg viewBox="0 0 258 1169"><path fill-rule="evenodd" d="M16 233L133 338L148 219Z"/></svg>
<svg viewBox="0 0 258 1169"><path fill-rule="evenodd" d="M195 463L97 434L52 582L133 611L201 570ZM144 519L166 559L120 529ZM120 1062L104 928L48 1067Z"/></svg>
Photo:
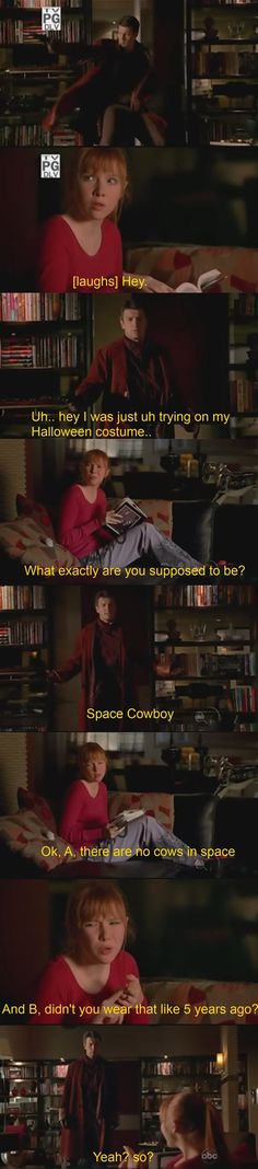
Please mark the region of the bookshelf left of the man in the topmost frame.
<svg viewBox="0 0 258 1169"><path fill-rule="evenodd" d="M82 46L91 40L88 0L62 4L61 32L50 34L49 54L41 27L41 5L0 5L0 146L82 146L69 118L54 130L42 127L42 113L82 76Z"/></svg>

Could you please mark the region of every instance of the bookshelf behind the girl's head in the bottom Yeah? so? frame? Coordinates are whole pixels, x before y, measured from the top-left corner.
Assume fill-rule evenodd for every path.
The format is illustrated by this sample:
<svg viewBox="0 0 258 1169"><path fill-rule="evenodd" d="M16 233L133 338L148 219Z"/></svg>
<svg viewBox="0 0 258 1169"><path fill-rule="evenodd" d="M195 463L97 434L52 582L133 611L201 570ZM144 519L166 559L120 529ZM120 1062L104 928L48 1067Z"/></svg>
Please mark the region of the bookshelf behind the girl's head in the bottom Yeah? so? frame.
<svg viewBox="0 0 258 1169"><path fill-rule="evenodd" d="M168 1149L160 1133L159 1109L166 1097L191 1087L222 1111L222 1068L215 1056L180 1056L169 1059L149 1057L141 1060L141 1134L142 1141L156 1142L159 1150L176 1154L177 1147ZM238 1060L238 1123L240 1132L247 1132L247 1058Z"/></svg>

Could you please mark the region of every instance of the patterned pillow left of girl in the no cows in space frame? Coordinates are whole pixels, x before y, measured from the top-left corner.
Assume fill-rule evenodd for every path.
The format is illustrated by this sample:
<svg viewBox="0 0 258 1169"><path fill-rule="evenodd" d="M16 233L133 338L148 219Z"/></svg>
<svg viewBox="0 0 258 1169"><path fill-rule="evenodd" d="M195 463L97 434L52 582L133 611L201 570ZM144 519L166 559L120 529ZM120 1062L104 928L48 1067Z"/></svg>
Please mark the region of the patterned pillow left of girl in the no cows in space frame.
<svg viewBox="0 0 258 1169"><path fill-rule="evenodd" d="M23 808L13 816L0 817L0 841L11 849L11 852L20 852L26 860L33 860L40 869L50 872L61 864L69 864L70 860L83 860L79 852L72 848L72 857L67 841L62 841L55 835L55 839L48 838L47 825L34 811ZM54 853L50 849L54 848ZM42 849L49 849L49 856L42 855ZM69 851L68 851L69 849ZM57 856L56 856L57 853Z"/></svg>

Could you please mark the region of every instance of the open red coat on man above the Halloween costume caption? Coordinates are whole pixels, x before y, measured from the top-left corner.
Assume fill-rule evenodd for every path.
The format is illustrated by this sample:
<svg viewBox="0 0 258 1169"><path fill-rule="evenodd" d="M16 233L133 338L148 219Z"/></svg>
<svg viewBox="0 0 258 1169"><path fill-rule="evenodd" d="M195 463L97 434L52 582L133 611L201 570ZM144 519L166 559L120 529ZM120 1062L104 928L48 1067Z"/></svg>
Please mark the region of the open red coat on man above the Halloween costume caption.
<svg viewBox="0 0 258 1169"><path fill-rule="evenodd" d="M158 346L153 346L154 348L156 348L155 360L159 365L156 403L166 406L172 394L168 362ZM148 376L149 390L153 390L155 387L153 382L152 358L149 360ZM95 390L95 396L92 396L91 390ZM102 390L106 390L110 394L119 394L123 397L128 395L126 345L123 337L117 341L112 341L111 345L105 345L103 350L98 350L86 378L84 378L78 387L77 394L85 394L85 397L89 395L89 401L96 401Z"/></svg>

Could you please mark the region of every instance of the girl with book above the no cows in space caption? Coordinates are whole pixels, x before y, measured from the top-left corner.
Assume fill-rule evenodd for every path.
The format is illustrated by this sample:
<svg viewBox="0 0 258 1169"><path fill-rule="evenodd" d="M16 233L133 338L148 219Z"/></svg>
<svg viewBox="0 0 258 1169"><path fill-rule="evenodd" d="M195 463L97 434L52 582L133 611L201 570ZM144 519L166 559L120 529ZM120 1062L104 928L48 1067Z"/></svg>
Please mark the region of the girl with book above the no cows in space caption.
<svg viewBox="0 0 258 1169"><path fill-rule="evenodd" d="M155 846L168 851L167 859L176 876L179 867L204 869L201 857L188 856L188 846L154 818L139 812L138 818L109 823L107 790L104 783L107 759L98 743L86 743L79 750L78 779L71 784L60 823L60 835L72 849L82 849L90 860L106 864L124 863L135 857L137 849ZM130 814L128 814L130 815ZM85 853L84 853L85 848ZM128 856L126 856L126 851ZM174 856L169 856L170 852Z"/></svg>

